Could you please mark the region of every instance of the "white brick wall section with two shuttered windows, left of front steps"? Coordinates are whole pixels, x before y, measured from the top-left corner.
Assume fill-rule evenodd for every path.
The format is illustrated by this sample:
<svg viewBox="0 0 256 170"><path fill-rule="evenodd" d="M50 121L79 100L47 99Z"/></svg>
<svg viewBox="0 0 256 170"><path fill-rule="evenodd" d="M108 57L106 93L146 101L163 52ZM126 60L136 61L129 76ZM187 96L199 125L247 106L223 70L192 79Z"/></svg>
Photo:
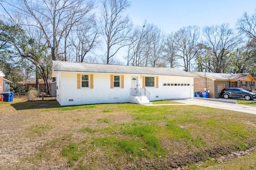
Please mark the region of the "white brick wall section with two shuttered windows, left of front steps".
<svg viewBox="0 0 256 170"><path fill-rule="evenodd" d="M77 89L77 74L62 73L61 105L124 103L129 101L130 76L124 75L124 88L110 88L110 74L93 74L94 88ZM119 74L114 74L119 75ZM120 75L121 76L121 75ZM90 76L89 76L90 77ZM120 82L121 83L121 82ZM70 101L73 100L73 101Z"/></svg>

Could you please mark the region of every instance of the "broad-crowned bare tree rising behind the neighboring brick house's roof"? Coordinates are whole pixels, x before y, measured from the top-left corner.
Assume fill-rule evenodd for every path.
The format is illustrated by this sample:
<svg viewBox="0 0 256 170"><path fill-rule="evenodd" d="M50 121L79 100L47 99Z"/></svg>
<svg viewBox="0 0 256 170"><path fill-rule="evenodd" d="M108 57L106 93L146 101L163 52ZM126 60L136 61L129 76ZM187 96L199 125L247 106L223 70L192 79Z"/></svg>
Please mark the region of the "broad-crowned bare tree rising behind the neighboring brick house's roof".
<svg viewBox="0 0 256 170"><path fill-rule="evenodd" d="M211 48L211 66L212 72L225 72L225 66L229 63L230 52L237 47L240 42L239 34L235 34L229 25L206 26L203 29L203 35L207 39L207 45Z"/></svg>

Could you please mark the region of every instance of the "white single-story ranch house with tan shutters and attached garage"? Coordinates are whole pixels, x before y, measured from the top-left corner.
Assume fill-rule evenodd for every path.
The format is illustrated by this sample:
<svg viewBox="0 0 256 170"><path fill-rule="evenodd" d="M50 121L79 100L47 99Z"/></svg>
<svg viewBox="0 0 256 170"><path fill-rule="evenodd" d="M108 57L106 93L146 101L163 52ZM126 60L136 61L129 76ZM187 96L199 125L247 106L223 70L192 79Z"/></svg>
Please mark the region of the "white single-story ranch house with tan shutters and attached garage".
<svg viewBox="0 0 256 170"><path fill-rule="evenodd" d="M52 61L52 77L64 106L193 98L198 76L175 68Z"/></svg>

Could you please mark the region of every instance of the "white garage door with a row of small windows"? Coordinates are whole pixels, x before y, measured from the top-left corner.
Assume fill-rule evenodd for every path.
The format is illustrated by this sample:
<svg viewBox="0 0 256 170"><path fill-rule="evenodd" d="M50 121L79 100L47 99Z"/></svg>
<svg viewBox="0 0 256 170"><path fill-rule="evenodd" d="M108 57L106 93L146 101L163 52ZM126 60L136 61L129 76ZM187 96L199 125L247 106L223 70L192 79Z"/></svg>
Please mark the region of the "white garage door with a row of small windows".
<svg viewBox="0 0 256 170"><path fill-rule="evenodd" d="M164 83L164 100L191 98L190 86L190 83Z"/></svg>

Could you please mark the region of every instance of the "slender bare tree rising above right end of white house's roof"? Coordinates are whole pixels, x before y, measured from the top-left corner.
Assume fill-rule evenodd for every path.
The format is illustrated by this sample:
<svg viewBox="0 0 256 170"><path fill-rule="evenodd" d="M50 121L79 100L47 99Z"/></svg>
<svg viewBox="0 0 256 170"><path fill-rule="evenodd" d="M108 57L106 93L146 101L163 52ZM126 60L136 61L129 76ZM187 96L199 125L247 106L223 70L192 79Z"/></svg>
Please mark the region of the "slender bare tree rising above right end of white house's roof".
<svg viewBox="0 0 256 170"><path fill-rule="evenodd" d="M196 56L200 28L198 26L183 27L177 32L179 36L179 56L185 71L190 71L190 65Z"/></svg>

